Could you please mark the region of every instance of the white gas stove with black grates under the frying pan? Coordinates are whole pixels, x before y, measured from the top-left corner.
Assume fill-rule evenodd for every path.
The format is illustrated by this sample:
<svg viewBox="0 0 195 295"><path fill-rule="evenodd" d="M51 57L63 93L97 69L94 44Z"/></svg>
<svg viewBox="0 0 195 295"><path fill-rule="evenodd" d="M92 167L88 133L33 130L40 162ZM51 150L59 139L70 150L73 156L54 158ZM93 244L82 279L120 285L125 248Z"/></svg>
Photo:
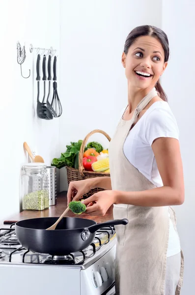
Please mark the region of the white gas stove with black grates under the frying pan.
<svg viewBox="0 0 195 295"><path fill-rule="evenodd" d="M1 226L1 291L7 295L114 295L115 251L112 226L98 230L88 248L66 256L32 253L17 240L15 224Z"/></svg>

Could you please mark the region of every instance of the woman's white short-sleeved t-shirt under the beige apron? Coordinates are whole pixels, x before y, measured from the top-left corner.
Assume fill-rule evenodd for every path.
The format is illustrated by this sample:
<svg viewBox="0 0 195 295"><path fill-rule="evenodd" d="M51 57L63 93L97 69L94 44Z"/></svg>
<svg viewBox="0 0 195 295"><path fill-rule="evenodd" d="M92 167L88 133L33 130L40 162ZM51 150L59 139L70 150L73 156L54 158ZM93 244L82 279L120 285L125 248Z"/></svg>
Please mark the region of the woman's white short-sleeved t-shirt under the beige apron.
<svg viewBox="0 0 195 295"><path fill-rule="evenodd" d="M123 146L124 154L129 162L158 187L163 186L163 181L151 146L159 137L179 139L176 119L165 101L156 101L146 110L129 132ZM169 221L167 257L180 252L179 237L171 219Z"/></svg>

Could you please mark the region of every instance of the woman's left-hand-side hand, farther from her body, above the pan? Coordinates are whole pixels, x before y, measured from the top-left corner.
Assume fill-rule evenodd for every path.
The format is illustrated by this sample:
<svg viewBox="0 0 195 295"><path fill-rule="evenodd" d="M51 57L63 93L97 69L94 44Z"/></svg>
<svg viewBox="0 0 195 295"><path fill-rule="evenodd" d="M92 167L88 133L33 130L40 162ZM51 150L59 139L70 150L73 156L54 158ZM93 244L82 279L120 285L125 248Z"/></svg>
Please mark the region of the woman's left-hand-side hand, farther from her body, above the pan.
<svg viewBox="0 0 195 295"><path fill-rule="evenodd" d="M71 201L79 201L79 199L83 198L83 195L88 193L91 187L92 179L84 179L71 181L69 183L68 192L67 192L67 205Z"/></svg>

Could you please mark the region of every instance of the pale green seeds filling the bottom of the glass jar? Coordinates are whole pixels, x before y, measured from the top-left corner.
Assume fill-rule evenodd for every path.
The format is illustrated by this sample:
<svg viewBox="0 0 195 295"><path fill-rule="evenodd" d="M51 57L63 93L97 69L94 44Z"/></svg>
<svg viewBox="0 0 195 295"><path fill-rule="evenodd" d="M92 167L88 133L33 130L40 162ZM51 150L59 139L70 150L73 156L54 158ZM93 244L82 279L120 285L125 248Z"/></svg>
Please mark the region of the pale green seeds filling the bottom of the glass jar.
<svg viewBox="0 0 195 295"><path fill-rule="evenodd" d="M39 190L23 197L23 210L44 210L49 208L49 193Z"/></svg>

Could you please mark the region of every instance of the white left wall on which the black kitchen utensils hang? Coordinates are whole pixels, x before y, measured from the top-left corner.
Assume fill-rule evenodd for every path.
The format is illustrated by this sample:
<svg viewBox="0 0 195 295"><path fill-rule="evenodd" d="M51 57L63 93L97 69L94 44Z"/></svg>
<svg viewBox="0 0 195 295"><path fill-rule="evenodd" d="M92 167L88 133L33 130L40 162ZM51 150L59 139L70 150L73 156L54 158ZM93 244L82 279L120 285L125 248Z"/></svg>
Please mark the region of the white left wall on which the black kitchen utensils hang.
<svg viewBox="0 0 195 295"><path fill-rule="evenodd" d="M59 55L59 1L0 1L0 222L19 211L20 172L27 157L23 142L47 164L59 151L59 119L36 116L36 52L34 47L53 46ZM23 75L17 63L17 41L26 42ZM43 83L41 84L42 88ZM42 97L42 92L41 92Z"/></svg>

